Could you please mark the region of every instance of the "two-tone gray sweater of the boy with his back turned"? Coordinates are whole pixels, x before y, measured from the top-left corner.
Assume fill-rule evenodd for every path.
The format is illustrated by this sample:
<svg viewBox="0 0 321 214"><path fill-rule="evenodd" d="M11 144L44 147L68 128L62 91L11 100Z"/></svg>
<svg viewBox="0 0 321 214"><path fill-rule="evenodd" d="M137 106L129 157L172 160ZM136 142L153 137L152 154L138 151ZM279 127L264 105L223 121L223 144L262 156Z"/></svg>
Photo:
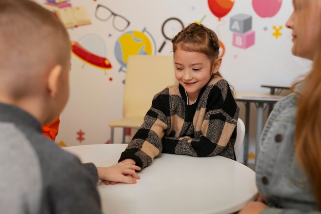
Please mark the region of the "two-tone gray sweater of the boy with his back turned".
<svg viewBox="0 0 321 214"><path fill-rule="evenodd" d="M0 212L102 213L96 167L43 136L29 113L0 103Z"/></svg>

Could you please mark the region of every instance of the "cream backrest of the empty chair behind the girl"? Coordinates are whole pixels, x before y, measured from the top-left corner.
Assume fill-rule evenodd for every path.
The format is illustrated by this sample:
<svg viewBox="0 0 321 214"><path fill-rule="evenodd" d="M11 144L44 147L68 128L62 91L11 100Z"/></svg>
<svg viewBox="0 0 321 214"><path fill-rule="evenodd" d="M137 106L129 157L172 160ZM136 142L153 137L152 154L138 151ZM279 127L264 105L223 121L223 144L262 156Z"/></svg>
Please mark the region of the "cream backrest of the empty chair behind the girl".
<svg viewBox="0 0 321 214"><path fill-rule="evenodd" d="M173 56L130 55L124 86L124 116L143 116L153 97L176 82Z"/></svg>

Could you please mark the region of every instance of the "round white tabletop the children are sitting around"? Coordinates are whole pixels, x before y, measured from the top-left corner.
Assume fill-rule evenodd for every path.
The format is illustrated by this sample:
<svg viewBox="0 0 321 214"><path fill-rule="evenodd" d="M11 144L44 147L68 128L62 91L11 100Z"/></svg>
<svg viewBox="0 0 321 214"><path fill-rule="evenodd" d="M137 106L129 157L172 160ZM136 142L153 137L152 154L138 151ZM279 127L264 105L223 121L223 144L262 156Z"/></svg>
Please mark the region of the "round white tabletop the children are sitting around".
<svg viewBox="0 0 321 214"><path fill-rule="evenodd" d="M94 144L64 147L82 163L96 166L116 163L127 144ZM104 213L227 214L254 200L255 172L221 156L195 158L160 154L138 172L136 184L98 183Z"/></svg>

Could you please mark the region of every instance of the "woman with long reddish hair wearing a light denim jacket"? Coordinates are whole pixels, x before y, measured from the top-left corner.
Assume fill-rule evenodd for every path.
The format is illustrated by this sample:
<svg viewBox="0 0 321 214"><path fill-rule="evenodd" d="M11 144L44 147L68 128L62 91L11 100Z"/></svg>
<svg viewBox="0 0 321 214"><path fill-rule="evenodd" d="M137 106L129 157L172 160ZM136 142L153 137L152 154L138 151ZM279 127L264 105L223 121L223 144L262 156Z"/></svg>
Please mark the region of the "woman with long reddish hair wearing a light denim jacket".
<svg viewBox="0 0 321 214"><path fill-rule="evenodd" d="M293 7L292 53L313 66L271 112L256 164L259 197L239 214L321 213L321 0Z"/></svg>

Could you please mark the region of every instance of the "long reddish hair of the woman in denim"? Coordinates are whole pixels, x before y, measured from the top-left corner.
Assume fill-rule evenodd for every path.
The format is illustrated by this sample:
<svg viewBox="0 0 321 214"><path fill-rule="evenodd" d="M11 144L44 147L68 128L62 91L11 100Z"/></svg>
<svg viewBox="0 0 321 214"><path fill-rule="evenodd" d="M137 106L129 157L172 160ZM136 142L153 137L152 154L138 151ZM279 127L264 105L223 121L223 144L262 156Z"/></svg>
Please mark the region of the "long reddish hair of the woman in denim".
<svg viewBox="0 0 321 214"><path fill-rule="evenodd" d="M312 69L298 92L294 142L321 210L321 31L318 38Z"/></svg>

